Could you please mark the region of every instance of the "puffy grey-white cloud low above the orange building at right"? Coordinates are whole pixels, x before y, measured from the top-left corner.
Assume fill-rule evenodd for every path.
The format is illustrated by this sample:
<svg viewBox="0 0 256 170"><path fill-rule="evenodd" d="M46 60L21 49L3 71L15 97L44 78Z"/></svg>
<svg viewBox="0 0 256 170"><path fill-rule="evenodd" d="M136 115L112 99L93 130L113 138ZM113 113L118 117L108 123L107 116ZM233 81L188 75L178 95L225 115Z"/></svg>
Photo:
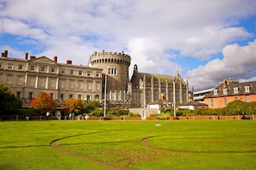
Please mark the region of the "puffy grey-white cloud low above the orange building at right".
<svg viewBox="0 0 256 170"><path fill-rule="evenodd" d="M187 74L190 85L197 89L214 88L218 82L229 77L241 82L256 81L256 39L247 46L225 46L222 53L223 59L216 58L190 70Z"/></svg>

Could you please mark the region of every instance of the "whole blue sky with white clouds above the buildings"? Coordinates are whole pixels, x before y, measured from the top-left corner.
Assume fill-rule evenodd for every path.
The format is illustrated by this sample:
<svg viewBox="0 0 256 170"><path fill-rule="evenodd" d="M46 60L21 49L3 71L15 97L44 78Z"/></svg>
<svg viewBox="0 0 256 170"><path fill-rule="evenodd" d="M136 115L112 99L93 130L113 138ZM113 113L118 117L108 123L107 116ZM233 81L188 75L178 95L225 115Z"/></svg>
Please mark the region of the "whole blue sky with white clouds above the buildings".
<svg viewBox="0 0 256 170"><path fill-rule="evenodd" d="M139 72L177 75L190 90L256 81L255 0L0 0L0 51L88 65L124 52Z"/></svg>

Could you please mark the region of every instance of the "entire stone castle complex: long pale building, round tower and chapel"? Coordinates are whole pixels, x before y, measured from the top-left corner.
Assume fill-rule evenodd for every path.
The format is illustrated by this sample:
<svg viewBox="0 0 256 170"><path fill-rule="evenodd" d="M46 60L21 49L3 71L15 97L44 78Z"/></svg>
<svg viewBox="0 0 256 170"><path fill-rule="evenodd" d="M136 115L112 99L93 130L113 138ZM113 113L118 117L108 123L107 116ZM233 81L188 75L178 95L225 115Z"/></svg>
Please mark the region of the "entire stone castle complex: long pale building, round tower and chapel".
<svg viewBox="0 0 256 170"><path fill-rule="evenodd" d="M159 99L177 104L188 100L188 82L179 74L140 73L135 64L129 80L131 57L124 52L94 52L90 66L73 65L72 60L59 64L57 59L28 59L28 52L24 59L9 58L6 50L0 58L0 82L9 86L24 107L41 92L52 94L60 107L70 98L106 100L107 108L122 109L147 108L147 103Z"/></svg>

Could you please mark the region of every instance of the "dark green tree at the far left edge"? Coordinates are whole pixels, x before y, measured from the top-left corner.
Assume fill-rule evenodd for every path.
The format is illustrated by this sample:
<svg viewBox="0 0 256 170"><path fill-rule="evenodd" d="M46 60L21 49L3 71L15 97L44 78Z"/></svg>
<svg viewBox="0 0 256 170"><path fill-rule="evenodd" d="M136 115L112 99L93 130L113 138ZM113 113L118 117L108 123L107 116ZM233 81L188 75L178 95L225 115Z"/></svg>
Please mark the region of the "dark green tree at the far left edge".
<svg viewBox="0 0 256 170"><path fill-rule="evenodd" d="M22 100L17 99L7 86L0 83L0 114L14 114L21 106Z"/></svg>

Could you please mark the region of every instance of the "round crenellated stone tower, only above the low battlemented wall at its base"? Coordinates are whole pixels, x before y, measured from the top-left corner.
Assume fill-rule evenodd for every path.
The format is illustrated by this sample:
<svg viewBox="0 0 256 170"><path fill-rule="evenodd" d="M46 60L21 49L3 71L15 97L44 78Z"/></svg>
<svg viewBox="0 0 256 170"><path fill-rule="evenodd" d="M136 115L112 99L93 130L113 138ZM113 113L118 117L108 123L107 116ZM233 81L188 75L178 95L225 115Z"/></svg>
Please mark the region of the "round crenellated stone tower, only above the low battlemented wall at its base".
<svg viewBox="0 0 256 170"><path fill-rule="evenodd" d="M92 67L102 68L103 74L107 75L107 92L128 90L130 62L131 57L123 52L94 52L90 56Z"/></svg>

